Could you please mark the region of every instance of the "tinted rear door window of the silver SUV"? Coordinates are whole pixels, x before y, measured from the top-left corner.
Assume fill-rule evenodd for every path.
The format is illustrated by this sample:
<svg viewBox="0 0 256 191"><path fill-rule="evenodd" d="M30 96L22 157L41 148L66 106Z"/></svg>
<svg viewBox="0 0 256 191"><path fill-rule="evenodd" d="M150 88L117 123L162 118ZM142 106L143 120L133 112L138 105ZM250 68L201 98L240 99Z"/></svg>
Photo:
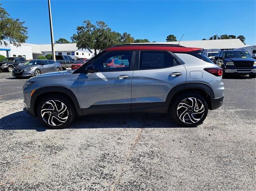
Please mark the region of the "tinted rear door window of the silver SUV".
<svg viewBox="0 0 256 191"><path fill-rule="evenodd" d="M166 51L140 51L141 70L171 67L173 63L173 58Z"/></svg>

